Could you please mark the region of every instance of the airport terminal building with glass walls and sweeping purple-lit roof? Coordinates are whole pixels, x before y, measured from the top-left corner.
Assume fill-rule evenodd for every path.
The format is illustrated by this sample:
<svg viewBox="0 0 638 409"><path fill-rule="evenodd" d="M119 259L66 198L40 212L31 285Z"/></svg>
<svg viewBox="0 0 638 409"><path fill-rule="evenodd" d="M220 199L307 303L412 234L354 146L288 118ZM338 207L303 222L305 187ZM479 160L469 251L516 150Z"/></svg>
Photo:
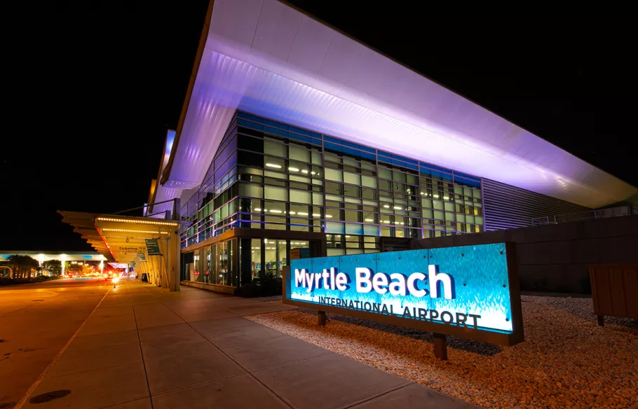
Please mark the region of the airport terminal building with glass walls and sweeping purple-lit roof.
<svg viewBox="0 0 638 409"><path fill-rule="evenodd" d="M147 215L179 200L182 279L231 291L637 192L283 2L215 0Z"/></svg>

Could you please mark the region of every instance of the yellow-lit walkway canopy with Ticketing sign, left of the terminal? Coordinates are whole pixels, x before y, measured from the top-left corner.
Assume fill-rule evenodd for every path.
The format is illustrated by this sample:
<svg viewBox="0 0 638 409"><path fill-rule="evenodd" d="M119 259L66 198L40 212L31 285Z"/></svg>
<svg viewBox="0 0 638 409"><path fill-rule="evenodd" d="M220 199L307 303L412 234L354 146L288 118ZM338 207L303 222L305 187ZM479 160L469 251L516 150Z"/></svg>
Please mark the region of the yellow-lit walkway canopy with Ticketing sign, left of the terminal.
<svg viewBox="0 0 638 409"><path fill-rule="evenodd" d="M151 217L58 211L62 221L111 263L134 265L151 283L179 291L179 222ZM159 252L147 249L157 240Z"/></svg>

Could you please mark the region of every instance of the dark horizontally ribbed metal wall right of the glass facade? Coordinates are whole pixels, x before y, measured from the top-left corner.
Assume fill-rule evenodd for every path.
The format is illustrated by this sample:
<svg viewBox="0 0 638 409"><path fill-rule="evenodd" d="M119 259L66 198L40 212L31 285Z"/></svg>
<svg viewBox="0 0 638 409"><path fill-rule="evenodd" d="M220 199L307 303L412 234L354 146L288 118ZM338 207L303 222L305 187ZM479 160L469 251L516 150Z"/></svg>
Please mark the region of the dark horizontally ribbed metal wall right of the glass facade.
<svg viewBox="0 0 638 409"><path fill-rule="evenodd" d="M483 212L487 231L529 227L534 217L590 210L581 205L574 205L490 179L482 179L482 185Z"/></svg>

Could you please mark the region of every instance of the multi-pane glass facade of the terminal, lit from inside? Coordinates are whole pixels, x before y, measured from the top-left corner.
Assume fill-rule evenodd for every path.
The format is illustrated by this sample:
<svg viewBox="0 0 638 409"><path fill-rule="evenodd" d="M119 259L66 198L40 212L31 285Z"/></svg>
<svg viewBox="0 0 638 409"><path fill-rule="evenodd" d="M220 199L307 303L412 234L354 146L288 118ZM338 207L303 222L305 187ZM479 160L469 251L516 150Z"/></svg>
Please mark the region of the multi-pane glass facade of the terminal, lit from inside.
<svg viewBox="0 0 638 409"><path fill-rule="evenodd" d="M182 247L236 227L324 233L328 256L380 251L381 237L477 233L483 230L480 188L475 176L237 112L204 183L182 207L190 222ZM280 275L290 249L309 245L234 242L240 264L234 270L244 279ZM196 251L199 271L210 258L210 282L237 285L229 273L232 251L232 245Z"/></svg>

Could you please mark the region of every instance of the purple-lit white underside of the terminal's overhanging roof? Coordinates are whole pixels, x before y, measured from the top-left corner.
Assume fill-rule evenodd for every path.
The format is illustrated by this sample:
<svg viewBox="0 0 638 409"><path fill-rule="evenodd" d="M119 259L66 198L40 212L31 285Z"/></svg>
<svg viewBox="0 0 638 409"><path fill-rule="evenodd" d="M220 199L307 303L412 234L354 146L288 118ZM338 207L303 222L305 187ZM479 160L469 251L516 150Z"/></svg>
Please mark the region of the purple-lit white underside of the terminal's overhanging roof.
<svg viewBox="0 0 638 409"><path fill-rule="evenodd" d="M193 188L236 109L587 207L638 190L276 0L215 0L165 188Z"/></svg>

